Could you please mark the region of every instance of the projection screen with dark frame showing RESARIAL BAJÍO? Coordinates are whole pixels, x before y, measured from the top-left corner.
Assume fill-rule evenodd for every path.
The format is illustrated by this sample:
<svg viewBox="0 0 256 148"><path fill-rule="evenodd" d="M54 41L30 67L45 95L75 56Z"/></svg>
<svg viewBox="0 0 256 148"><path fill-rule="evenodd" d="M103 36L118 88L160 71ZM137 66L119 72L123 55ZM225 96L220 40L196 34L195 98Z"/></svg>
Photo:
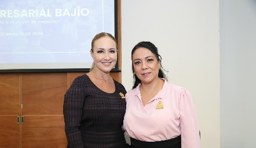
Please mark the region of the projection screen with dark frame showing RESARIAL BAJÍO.
<svg viewBox="0 0 256 148"><path fill-rule="evenodd" d="M116 7L114 0L1 0L0 72L87 71L93 36L117 39Z"/></svg>

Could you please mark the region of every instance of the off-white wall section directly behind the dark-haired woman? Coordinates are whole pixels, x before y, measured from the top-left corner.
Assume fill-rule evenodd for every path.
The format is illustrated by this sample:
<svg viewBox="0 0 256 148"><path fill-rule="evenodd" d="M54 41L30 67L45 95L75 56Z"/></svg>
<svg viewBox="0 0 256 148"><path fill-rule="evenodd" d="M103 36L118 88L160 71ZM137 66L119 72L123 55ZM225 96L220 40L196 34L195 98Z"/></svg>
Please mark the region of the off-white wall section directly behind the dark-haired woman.
<svg viewBox="0 0 256 148"><path fill-rule="evenodd" d="M169 82L188 88L198 113L201 147L220 147L220 34L216 0L123 0L122 83L132 87L131 49L158 47Z"/></svg>

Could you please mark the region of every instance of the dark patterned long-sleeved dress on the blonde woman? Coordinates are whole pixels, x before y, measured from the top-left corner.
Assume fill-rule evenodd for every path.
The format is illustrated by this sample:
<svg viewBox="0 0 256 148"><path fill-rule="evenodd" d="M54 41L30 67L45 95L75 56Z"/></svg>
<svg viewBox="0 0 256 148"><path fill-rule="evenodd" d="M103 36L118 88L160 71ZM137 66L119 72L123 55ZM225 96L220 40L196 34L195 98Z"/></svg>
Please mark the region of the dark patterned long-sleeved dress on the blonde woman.
<svg viewBox="0 0 256 148"><path fill-rule="evenodd" d="M98 88L87 75L76 77L64 95L65 133L67 147L125 147L122 130L126 101L120 92L125 87L115 83L115 92Z"/></svg>

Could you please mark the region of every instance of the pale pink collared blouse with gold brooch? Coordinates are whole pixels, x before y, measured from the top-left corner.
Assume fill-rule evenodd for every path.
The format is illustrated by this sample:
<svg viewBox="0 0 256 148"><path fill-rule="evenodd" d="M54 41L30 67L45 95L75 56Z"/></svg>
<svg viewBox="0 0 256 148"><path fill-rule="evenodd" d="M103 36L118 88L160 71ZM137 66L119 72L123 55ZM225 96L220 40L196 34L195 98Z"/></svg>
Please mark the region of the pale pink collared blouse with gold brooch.
<svg viewBox="0 0 256 148"><path fill-rule="evenodd" d="M181 135L182 148L200 148L198 119L189 91L163 80L162 90L145 106L141 84L126 93L123 128L134 139L153 142Z"/></svg>

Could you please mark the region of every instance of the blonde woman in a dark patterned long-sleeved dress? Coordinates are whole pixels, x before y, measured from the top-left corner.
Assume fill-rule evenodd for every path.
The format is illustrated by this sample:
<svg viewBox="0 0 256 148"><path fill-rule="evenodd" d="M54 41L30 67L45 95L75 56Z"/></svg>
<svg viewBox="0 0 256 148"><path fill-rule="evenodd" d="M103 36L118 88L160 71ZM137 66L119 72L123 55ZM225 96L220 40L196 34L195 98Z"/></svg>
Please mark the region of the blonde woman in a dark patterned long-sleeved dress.
<svg viewBox="0 0 256 148"><path fill-rule="evenodd" d="M117 51L111 34L101 32L94 36L92 68L76 77L64 96L67 147L126 147L122 129L126 90L109 75L116 64Z"/></svg>

